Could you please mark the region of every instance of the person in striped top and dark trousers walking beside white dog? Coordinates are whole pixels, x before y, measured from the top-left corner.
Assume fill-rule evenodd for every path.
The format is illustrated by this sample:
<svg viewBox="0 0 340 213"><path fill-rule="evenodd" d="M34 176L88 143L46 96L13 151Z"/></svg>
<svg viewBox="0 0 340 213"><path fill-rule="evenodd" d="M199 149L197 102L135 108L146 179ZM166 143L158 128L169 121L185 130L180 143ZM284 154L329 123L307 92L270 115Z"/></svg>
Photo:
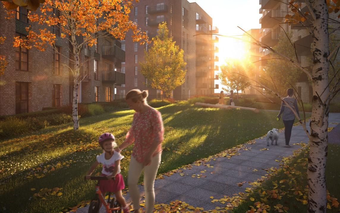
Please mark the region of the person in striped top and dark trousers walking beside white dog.
<svg viewBox="0 0 340 213"><path fill-rule="evenodd" d="M293 98L294 91L292 88L289 88L287 90L287 97L283 98L284 101L286 101L289 106L296 111L297 115L300 118L299 114L299 108L297 107L297 100ZM281 110L279 114L277 115L277 118L280 119L281 114L283 113L282 120L283 123L285 124L285 140L286 140L286 147L290 147L289 141L290 141L290 136L292 134L292 128L295 120L295 114L293 111L287 106L287 104L282 101L281 104Z"/></svg>

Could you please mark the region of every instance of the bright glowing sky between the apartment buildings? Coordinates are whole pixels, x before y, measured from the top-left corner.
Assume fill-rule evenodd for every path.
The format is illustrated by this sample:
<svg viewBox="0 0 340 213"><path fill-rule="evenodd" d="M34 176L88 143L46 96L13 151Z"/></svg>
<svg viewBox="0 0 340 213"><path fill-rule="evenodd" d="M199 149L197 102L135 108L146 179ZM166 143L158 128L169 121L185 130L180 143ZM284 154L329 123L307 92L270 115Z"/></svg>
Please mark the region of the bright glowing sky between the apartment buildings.
<svg viewBox="0 0 340 213"><path fill-rule="evenodd" d="M196 2L202 9L212 18L212 26L219 28L219 33L226 36L242 35L243 30L248 31L252 28L260 28L259 19L262 14L259 14L258 0L188 0L189 2ZM226 38L219 36L219 42L216 43L219 48L219 62L216 65L224 64L226 58L240 58L242 57L242 44L233 38ZM218 72L216 72L218 74ZM215 81L215 83L219 83ZM221 91L215 90L215 93Z"/></svg>

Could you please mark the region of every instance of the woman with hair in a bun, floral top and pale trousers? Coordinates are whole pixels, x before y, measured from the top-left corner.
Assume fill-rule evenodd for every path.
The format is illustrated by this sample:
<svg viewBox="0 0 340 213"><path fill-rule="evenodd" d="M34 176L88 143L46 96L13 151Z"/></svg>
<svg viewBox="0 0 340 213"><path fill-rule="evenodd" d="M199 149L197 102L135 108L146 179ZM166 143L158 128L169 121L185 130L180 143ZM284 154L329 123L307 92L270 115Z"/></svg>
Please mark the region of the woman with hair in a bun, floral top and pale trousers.
<svg viewBox="0 0 340 213"><path fill-rule="evenodd" d="M148 92L131 90L125 96L130 109L135 110L132 126L125 141L116 149L121 152L134 143L131 156L128 184L135 213L139 213L140 193L138 179L144 170L144 190L146 212L152 213L155 203L154 182L162 154L164 127L160 112L148 105Z"/></svg>

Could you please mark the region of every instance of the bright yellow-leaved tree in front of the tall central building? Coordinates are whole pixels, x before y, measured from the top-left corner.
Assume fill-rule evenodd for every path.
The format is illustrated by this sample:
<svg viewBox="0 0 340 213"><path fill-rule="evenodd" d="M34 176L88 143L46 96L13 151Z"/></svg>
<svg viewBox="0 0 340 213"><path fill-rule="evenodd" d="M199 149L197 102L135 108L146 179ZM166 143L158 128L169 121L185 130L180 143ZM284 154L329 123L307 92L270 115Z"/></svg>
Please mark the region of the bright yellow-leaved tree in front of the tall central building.
<svg viewBox="0 0 340 213"><path fill-rule="evenodd" d="M184 83L184 51L175 45L166 22L159 24L157 36L154 37L152 47L144 51L145 61L140 62L140 73L148 79L148 85L162 90L166 96L171 94L177 86Z"/></svg>

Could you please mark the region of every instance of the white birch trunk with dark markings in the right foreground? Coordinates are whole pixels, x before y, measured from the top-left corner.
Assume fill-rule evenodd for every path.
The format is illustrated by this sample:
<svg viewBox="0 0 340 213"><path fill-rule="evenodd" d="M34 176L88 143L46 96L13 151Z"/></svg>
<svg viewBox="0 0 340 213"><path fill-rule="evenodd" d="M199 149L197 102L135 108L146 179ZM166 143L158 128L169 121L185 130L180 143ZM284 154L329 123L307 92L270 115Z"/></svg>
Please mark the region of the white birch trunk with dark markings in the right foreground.
<svg viewBox="0 0 340 213"><path fill-rule="evenodd" d="M325 213L327 207L325 166L328 147L328 7L325 0L309 0L316 19L313 21L312 115L308 157L308 213ZM325 91L324 91L325 90ZM322 94L322 95L321 95ZM320 96L320 97L319 97Z"/></svg>

